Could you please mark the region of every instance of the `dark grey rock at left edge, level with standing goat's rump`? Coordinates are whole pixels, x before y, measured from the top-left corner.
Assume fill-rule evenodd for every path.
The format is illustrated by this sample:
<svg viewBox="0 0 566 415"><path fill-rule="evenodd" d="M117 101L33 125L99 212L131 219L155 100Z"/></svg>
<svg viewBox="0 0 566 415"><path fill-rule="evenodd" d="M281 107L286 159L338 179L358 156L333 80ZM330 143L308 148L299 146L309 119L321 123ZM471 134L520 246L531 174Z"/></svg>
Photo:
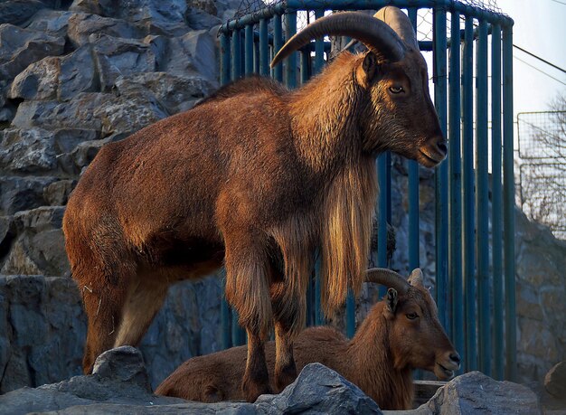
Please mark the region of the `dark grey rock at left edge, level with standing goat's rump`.
<svg viewBox="0 0 566 415"><path fill-rule="evenodd" d="M56 180L55 177L0 176L0 215L47 204L43 190Z"/></svg>

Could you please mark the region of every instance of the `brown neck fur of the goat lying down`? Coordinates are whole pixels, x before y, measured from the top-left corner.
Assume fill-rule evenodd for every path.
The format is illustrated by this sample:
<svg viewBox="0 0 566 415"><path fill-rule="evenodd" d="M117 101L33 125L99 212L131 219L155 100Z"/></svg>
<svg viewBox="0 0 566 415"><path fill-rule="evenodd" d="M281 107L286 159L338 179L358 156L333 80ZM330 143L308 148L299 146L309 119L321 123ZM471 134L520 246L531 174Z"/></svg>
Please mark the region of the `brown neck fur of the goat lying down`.
<svg viewBox="0 0 566 415"><path fill-rule="evenodd" d="M412 370L395 368L389 341L389 322L383 316L384 303L378 303L366 316L348 344L351 378L382 409L410 409L413 397ZM379 373L361 377L359 373ZM379 393L379 396L376 395Z"/></svg>

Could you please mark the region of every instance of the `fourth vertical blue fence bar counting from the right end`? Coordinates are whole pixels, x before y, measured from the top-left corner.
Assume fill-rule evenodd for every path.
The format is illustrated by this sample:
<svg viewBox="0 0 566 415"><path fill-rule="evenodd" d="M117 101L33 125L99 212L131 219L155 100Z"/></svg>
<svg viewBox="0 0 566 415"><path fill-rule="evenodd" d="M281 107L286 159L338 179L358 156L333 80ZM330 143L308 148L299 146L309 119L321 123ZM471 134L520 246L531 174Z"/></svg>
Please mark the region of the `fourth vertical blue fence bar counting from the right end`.
<svg viewBox="0 0 566 415"><path fill-rule="evenodd" d="M466 18L462 51L462 181L464 210L464 285L466 371L477 369L476 354L476 218L474 209L474 19Z"/></svg>

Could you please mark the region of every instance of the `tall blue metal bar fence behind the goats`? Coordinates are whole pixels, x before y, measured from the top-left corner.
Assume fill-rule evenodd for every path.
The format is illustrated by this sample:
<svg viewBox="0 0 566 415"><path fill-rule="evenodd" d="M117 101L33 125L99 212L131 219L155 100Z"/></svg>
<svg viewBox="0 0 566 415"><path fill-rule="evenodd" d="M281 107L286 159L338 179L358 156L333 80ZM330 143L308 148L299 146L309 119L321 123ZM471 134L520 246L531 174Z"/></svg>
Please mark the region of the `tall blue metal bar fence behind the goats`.
<svg viewBox="0 0 566 415"><path fill-rule="evenodd" d="M259 73L296 88L323 69L330 49L330 42L317 40L269 70L274 53L297 32L297 13L319 18L329 10L384 5L406 9L415 27L420 11L432 14L432 40L420 40L420 50L432 52L434 101L449 142L448 159L435 170L439 317L464 358L465 371L514 379L513 21L485 7L450 0L284 0L222 25L222 84ZM384 247L391 217L391 156L383 154L377 163L378 246ZM410 269L420 264L419 198L418 165L409 161ZM378 250L378 256L378 265L386 267L386 250ZM320 324L318 278L308 295L311 323ZM222 322L225 347L245 342L227 306ZM346 322L352 335L352 296Z"/></svg>

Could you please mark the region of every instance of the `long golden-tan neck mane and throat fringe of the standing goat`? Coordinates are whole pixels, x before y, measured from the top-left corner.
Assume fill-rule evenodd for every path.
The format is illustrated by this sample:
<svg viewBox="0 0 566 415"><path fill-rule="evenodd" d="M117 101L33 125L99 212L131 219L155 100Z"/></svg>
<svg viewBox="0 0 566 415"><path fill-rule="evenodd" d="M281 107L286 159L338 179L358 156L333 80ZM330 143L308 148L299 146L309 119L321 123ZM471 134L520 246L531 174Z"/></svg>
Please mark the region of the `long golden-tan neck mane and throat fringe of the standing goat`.
<svg viewBox="0 0 566 415"><path fill-rule="evenodd" d="M321 297L327 316L344 302L348 287L356 294L362 287L375 213L375 160L363 153L359 129L363 92L354 71L360 59L343 53L316 80L292 92L297 153L315 176L326 177L317 203L322 211Z"/></svg>

